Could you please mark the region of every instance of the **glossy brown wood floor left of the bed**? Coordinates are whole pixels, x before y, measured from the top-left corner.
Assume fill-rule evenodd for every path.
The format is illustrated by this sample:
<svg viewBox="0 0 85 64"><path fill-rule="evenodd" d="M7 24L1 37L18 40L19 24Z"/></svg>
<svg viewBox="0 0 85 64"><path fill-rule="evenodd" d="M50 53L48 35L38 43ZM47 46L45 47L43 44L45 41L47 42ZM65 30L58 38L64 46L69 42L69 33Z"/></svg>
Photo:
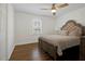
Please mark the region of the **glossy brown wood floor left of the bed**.
<svg viewBox="0 0 85 64"><path fill-rule="evenodd" d="M52 61L53 59L40 51L38 43L16 46L10 61Z"/></svg>

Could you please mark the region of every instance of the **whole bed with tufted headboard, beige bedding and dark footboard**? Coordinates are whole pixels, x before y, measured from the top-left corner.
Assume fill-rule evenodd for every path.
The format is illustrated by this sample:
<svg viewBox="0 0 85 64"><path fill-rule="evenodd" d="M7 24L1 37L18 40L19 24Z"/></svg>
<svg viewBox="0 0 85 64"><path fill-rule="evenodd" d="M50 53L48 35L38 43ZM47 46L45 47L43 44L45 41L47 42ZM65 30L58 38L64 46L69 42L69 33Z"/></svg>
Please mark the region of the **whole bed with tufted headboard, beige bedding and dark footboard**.
<svg viewBox="0 0 85 64"><path fill-rule="evenodd" d="M39 48L58 60L63 55L63 50L80 46L81 36L82 25L70 20L61 27L60 34L39 37Z"/></svg>

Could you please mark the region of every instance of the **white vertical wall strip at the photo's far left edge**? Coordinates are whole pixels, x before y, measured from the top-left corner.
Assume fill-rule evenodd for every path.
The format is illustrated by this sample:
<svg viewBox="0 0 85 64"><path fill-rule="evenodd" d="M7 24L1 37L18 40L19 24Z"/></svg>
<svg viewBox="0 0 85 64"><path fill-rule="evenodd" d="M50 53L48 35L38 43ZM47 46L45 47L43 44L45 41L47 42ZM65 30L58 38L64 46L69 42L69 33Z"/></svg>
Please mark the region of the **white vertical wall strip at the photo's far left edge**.
<svg viewBox="0 0 85 64"><path fill-rule="evenodd" d="M6 4L0 4L0 61L8 60L6 57Z"/></svg>

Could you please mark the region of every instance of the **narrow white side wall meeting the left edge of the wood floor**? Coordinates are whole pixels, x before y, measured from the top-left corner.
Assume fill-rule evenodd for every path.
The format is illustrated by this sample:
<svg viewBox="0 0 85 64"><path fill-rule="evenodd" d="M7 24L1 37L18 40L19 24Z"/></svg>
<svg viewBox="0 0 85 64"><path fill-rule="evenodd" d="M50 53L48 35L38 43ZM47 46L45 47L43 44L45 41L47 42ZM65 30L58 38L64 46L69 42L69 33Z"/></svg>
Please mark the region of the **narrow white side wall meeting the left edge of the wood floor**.
<svg viewBox="0 0 85 64"><path fill-rule="evenodd" d="M8 4L8 59L14 50L14 9Z"/></svg>

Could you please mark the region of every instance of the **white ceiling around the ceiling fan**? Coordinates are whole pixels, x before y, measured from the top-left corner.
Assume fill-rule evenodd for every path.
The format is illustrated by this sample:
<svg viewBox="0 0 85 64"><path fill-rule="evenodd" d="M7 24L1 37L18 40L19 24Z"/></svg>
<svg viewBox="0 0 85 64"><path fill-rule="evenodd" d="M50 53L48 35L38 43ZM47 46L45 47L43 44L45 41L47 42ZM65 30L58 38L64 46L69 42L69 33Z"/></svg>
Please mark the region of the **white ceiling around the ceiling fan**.
<svg viewBox="0 0 85 64"><path fill-rule="evenodd" d="M26 13L32 13L38 15L46 15L46 16L53 16L51 10L41 10L41 9L51 9L52 3L14 3L13 4L15 11L26 12ZM69 13L71 11L82 9L85 7L85 3L69 3L68 7L57 10L57 15L63 15L66 13Z"/></svg>

